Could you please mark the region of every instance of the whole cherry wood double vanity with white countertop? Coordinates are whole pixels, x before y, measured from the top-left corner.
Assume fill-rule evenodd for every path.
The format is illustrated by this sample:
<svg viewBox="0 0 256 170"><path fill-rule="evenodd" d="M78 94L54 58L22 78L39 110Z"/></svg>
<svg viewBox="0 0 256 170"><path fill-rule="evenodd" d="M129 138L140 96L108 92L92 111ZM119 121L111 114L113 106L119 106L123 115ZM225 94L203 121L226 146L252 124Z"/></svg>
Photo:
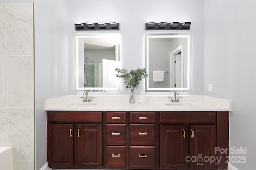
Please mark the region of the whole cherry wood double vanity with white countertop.
<svg viewBox="0 0 256 170"><path fill-rule="evenodd" d="M64 98L62 104L46 102L50 168L227 169L228 153L216 152L216 147L228 148L228 101L220 105L212 99L218 108L207 110L208 97L178 107L122 99L80 106L70 102L75 96Z"/></svg>

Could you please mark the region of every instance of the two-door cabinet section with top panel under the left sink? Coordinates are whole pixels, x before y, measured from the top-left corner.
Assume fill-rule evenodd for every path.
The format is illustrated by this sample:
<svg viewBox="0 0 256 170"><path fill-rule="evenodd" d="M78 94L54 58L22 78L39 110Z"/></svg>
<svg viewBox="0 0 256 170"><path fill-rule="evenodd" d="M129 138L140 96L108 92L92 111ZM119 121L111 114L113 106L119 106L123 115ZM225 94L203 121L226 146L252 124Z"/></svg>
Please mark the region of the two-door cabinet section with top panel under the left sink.
<svg viewBox="0 0 256 170"><path fill-rule="evenodd" d="M47 111L50 168L102 168L102 112Z"/></svg>

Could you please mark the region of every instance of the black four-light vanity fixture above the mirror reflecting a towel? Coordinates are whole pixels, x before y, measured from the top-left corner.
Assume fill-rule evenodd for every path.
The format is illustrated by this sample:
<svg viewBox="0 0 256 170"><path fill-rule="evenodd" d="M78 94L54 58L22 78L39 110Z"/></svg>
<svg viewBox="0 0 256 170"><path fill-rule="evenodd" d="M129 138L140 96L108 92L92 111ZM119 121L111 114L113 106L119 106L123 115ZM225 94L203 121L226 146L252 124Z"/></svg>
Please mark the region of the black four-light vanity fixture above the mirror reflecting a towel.
<svg viewBox="0 0 256 170"><path fill-rule="evenodd" d="M191 22L148 22L145 24L146 30L159 30L159 29L184 29L189 30L190 29Z"/></svg>

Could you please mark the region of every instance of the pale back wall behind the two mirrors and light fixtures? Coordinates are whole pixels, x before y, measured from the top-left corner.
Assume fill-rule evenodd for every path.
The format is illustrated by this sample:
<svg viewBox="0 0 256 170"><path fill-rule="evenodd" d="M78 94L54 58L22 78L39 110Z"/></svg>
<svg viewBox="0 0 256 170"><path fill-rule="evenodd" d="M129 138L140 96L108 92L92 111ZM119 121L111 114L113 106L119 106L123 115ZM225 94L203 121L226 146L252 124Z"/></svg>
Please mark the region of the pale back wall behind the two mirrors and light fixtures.
<svg viewBox="0 0 256 170"><path fill-rule="evenodd" d="M203 94L203 1L166 1L166 0L86 0L68 1L68 87L69 94L81 94L74 89L74 35L76 33L120 33L121 34L121 67L134 70L144 68L144 34L162 31L146 31L145 23L154 21L191 21L190 30L165 30L164 33L191 33L191 91L186 94ZM119 31L75 31L75 22L118 22ZM135 94L144 90L144 80ZM111 92L113 94L114 92ZM129 90L121 81L121 92ZM148 92L151 94L151 92ZM157 94L156 92L153 92ZM160 92L159 92L160 93ZM93 94L93 92L91 92ZM108 94L105 92L104 94Z"/></svg>

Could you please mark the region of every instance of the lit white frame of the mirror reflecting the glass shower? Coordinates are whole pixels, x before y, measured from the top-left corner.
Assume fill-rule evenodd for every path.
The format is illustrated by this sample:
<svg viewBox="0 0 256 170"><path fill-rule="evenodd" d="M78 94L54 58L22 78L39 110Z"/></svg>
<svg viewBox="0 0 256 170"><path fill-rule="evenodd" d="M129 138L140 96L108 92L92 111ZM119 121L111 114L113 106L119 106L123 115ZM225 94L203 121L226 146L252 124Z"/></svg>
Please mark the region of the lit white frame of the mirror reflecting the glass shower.
<svg viewBox="0 0 256 170"><path fill-rule="evenodd" d="M121 40L121 35L119 33L101 33L101 34L76 34L75 35L75 90L76 91L84 91L84 90L96 90L95 92L104 92L104 91L120 91L120 79L116 78L116 87L115 88L103 88L103 87L79 87L79 39L80 38L107 38L110 36L119 36ZM121 48L121 43L119 44L119 48L117 49L117 53L121 55L119 49ZM121 56L118 56L120 58ZM117 61L120 61L117 59ZM118 66L117 66L118 67Z"/></svg>

